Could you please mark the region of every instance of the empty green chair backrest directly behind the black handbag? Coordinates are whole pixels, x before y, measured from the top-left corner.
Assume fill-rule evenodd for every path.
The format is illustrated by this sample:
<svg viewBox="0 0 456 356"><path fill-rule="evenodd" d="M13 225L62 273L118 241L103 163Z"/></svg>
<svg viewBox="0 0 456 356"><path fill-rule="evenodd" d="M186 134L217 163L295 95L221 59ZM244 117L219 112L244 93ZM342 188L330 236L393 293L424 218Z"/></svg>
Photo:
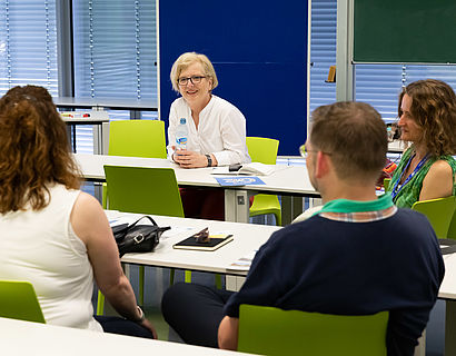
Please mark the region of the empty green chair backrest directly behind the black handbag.
<svg viewBox="0 0 456 356"><path fill-rule="evenodd" d="M105 166L109 209L184 217L172 168Z"/></svg>

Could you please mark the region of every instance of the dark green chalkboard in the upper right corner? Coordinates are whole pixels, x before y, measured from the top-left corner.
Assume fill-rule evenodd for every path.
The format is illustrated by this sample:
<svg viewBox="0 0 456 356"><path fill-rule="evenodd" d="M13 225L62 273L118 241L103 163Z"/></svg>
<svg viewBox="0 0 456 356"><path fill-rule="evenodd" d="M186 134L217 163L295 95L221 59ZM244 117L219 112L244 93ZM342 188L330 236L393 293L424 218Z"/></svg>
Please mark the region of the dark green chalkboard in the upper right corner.
<svg viewBox="0 0 456 356"><path fill-rule="evenodd" d="M354 0L355 62L456 63L456 0Z"/></svg>

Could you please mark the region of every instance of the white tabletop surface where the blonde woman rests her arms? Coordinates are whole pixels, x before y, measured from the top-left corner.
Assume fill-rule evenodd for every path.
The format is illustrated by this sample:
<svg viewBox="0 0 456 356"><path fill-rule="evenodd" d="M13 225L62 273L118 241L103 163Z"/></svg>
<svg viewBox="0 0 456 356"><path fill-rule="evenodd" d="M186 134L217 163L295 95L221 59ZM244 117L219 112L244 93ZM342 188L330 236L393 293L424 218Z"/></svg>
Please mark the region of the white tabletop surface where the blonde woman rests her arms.
<svg viewBox="0 0 456 356"><path fill-rule="evenodd" d="M132 167L169 167L174 168L176 179L180 186L220 187L211 175L212 168L184 169L167 159L119 157L102 155L76 154L76 160L81 167L82 176L87 180L105 180L103 165L132 166ZM260 177L265 185L249 185L242 187L224 187L228 189L242 189L267 191L278 195L314 196L319 194L314 189L304 166L276 166L276 171L269 176Z"/></svg>

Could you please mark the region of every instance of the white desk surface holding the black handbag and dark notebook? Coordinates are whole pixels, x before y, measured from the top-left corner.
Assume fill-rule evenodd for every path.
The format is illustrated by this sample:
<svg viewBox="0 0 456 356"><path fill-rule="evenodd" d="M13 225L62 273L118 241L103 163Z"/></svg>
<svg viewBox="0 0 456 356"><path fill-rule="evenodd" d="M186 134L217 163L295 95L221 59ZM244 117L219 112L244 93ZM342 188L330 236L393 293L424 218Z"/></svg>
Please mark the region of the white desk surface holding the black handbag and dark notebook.
<svg viewBox="0 0 456 356"><path fill-rule="evenodd" d="M107 211L110 221L132 222L141 215ZM270 235L280 229L277 226L240 224L228 221L214 221L204 219L176 218L166 216L152 216L158 226L170 226L171 229L165 231L160 244L153 253L127 254L122 257L122 263L172 267L181 269L192 269L199 271L219 273L226 275L246 276L247 270L234 270L229 266L240 257L251 254L266 243ZM145 220L146 222L147 220ZM215 251L185 250L172 248L185 238L209 227L209 234L225 233L232 234L232 241L221 246Z"/></svg>

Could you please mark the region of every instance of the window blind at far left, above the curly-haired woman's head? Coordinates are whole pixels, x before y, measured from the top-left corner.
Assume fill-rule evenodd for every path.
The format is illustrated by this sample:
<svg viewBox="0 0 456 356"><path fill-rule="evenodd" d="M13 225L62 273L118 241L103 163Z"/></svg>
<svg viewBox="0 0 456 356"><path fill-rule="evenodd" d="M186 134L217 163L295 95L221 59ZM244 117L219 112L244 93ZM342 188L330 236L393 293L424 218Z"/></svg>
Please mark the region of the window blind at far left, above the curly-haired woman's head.
<svg viewBox="0 0 456 356"><path fill-rule="evenodd" d="M57 96L54 0L0 1L0 95L37 85Z"/></svg>

